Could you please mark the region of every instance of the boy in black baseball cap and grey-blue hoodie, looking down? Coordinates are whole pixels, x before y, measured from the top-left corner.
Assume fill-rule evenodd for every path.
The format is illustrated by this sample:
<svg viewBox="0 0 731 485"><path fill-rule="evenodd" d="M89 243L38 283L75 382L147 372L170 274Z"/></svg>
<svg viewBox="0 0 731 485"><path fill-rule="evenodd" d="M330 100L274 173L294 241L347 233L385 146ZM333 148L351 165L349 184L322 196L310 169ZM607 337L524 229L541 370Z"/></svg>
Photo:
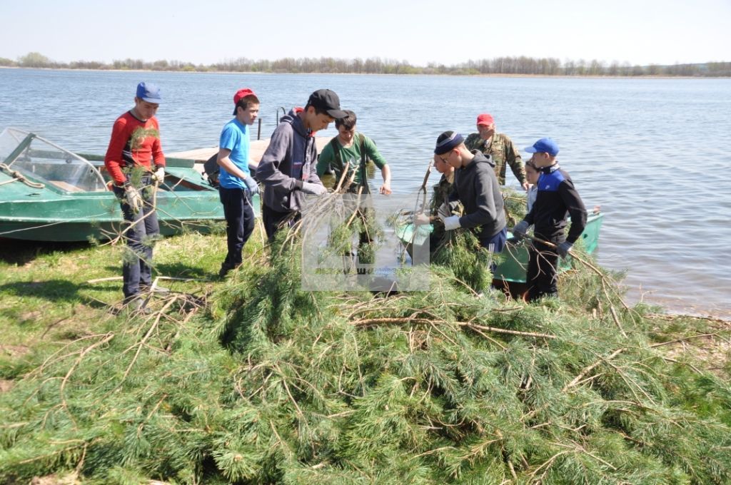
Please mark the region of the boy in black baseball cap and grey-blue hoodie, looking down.
<svg viewBox="0 0 731 485"><path fill-rule="evenodd" d="M305 194L327 192L317 177L314 133L344 116L338 95L319 89L304 110L293 109L279 120L257 167L257 178L265 187L262 222L269 240L281 224L299 217Z"/></svg>

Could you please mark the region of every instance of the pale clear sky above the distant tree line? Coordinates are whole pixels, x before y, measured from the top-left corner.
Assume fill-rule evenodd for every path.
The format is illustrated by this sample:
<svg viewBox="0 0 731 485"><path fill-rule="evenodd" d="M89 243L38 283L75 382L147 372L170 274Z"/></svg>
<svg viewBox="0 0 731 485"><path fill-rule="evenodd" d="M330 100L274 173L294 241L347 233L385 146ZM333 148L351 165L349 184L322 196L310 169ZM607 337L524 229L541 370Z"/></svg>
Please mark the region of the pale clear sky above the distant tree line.
<svg viewBox="0 0 731 485"><path fill-rule="evenodd" d="M731 61L731 0L1 0L0 57Z"/></svg>

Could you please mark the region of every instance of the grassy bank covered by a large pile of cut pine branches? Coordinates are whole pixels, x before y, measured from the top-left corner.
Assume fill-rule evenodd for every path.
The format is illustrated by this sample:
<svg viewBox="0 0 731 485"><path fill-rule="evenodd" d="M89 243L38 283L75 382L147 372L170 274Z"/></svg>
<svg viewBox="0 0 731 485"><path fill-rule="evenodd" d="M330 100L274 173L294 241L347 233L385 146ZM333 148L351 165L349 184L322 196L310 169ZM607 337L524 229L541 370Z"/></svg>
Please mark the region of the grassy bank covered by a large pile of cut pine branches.
<svg viewBox="0 0 731 485"><path fill-rule="evenodd" d="M240 272L210 281L224 252L222 235L159 243L158 275L198 280L160 283L201 306L158 298L144 317L116 311L120 281L88 283L119 274L119 248L2 248L0 477L729 478L722 321L624 309L581 267L561 278L560 302L523 305L475 297L439 267L429 292L298 291L297 253L270 261L260 234Z"/></svg>

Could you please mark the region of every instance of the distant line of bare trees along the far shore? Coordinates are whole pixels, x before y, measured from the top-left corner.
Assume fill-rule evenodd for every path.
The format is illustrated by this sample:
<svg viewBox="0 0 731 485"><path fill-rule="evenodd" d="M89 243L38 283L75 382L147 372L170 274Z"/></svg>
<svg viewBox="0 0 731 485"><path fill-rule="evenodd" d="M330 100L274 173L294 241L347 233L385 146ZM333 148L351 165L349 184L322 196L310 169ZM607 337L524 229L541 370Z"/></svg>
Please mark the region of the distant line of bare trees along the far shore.
<svg viewBox="0 0 731 485"><path fill-rule="evenodd" d="M276 61L254 61L249 58L229 59L215 64L193 64L184 61L143 61L127 58L111 64L99 61L56 62L41 53L31 52L17 61L0 57L0 66L36 67L50 69L129 69L148 71L183 72L275 72L275 73L352 73L352 74L425 74L425 75L545 75L545 76L697 76L731 77L731 62L707 62L704 64L673 64L661 66L632 66L624 62L605 63L593 59L586 61L558 58L498 57L467 61L461 64L436 64L412 66L407 61L394 59L355 58L281 58Z"/></svg>

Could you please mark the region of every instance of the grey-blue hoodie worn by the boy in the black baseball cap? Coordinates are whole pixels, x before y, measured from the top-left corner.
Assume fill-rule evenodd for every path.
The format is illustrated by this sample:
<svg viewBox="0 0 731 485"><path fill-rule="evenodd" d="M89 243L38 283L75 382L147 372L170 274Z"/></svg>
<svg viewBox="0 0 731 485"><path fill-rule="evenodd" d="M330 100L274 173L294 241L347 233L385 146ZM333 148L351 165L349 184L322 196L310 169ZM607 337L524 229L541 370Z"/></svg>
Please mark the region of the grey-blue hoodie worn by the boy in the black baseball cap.
<svg viewBox="0 0 731 485"><path fill-rule="evenodd" d="M257 167L257 179L265 186L264 205L277 212L300 210L303 182L322 185L315 138L295 110L279 120Z"/></svg>

